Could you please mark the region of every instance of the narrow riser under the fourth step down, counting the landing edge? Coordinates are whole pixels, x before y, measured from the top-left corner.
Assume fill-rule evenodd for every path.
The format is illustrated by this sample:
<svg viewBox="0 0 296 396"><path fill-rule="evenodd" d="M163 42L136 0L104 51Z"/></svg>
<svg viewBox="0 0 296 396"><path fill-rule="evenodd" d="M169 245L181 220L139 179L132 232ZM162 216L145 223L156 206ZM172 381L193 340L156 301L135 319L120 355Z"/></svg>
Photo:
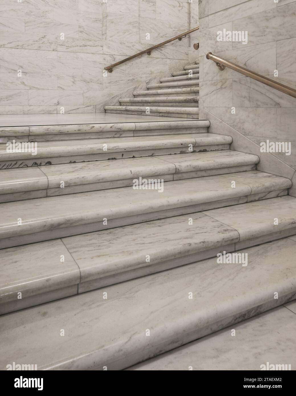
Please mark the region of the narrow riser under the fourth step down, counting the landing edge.
<svg viewBox="0 0 296 396"><path fill-rule="evenodd" d="M268 195L266 195L266 198L263 197L262 199L269 199L277 196L284 196L287 194L288 194L288 190L282 189L282 190L270 192ZM22 226L23 234L0 239L0 249L13 247L13 246L21 246L25 244L31 244L35 242L41 242L41 241L52 240L57 238L65 238L67 236L85 234L86 232L94 232L103 229L115 228L115 227L124 227L126 225L144 223L146 221L165 219L166 217L180 216L186 213L195 213L204 210L223 208L225 206L232 206L232 205L242 204L244 202L250 202L251 200L252 200L252 195L238 196L237 198L229 198L229 199L207 202L202 204L193 204L189 206L182 206L184 205L184 202L180 200L179 202L180 207L178 208L159 210L159 211L154 211L139 215L128 215L127 213L125 213L127 215L123 218L118 217L116 219L110 219L109 217L107 225L102 224L103 217L101 216L98 219L96 219L95 223L86 224L85 219L73 220L71 221L71 223L75 223L75 221L80 223L83 221L83 224L78 224L78 225L73 224L70 225L69 227L63 227L64 225L63 222L61 223L58 219L50 223L43 221L40 222L38 225L35 225L36 228L35 227L34 228L36 229L36 232L26 234L26 232L31 232L32 229L31 227L28 228L26 227L26 225L23 225ZM294 233L296 232L294 231Z"/></svg>

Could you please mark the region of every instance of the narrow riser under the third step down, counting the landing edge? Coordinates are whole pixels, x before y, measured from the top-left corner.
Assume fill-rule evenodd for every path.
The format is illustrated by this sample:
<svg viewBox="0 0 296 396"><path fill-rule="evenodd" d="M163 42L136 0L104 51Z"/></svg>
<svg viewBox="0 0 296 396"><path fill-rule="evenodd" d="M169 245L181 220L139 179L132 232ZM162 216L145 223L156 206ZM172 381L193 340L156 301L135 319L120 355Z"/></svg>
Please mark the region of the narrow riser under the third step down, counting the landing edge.
<svg viewBox="0 0 296 396"><path fill-rule="evenodd" d="M233 166L227 168L219 168L219 169L205 169L200 171L193 172L182 172L182 173L169 173L166 175L163 174L149 174L146 176L142 176L143 179L163 179L164 181L172 181L172 180L182 180L182 179L191 179L195 177L204 177L204 176L213 176L213 175L221 175L227 173L235 173L235 172L246 172L252 171L256 169L256 165L244 165L244 166ZM13 202L13 201L21 201L21 200L29 200L34 198L44 198L50 196L61 196L66 194L75 194L80 192L88 192L88 191L98 191L98 190L107 190L109 188L120 188L120 187L128 187L132 186L134 183L134 179L139 176L134 176L131 179L120 179L120 180L111 180L104 182L93 182L88 184L74 184L73 180L68 181L63 177L63 181L65 182L65 187L54 187L54 188L43 188L40 190L29 190L18 192L17 187L15 187L15 192L10 192L6 194L0 194L0 203L4 202Z"/></svg>

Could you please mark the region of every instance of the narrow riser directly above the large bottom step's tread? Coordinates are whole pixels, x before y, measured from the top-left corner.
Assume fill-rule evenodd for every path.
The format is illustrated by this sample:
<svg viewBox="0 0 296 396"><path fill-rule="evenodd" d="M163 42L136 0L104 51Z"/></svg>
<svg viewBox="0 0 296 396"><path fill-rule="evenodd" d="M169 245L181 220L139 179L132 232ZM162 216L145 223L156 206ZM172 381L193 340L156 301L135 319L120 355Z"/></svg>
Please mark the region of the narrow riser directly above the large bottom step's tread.
<svg viewBox="0 0 296 396"><path fill-rule="evenodd" d="M72 295L85 293L87 291L91 291L95 289L100 289L102 287L107 287L113 284L126 282L128 280L140 278L142 276L147 276L149 274L154 274L157 272L169 270L183 265L198 263L199 261L202 261L204 259L216 257L218 253L223 254L223 251L225 251L226 253L239 251L241 249L244 249L246 246L251 247L251 246L256 246L258 244L275 241L281 238L292 236L295 233L296 233L296 228L290 228L280 233L276 232L273 234L262 235L262 237L260 238L260 242L258 242L258 238L256 239L254 238L239 243L233 242L230 244L223 244L222 246L212 247L210 249L198 251L190 255L180 255L180 257L176 257L174 259L169 259L166 261L160 261L159 263L155 263L149 266L145 266L145 267L135 266L134 269L127 270L124 272L116 273L116 268L115 268L114 274L103 276L101 278L97 278L98 274L96 274L96 278L94 278L93 280L81 282L78 284L76 283L73 285L62 287L60 289L51 290L50 288L46 289L46 287L44 286L41 287L39 285L38 287L37 285L35 289L31 287L31 289L22 290L22 293L25 296L25 298L22 299L21 301L17 299L17 293L19 292L18 290L15 291L14 293L11 292L9 300L4 301L2 299L2 302L0 303L0 315L9 312L14 312L19 309L34 307L35 305L39 305L40 303L47 303L50 301L55 301L60 298L70 297ZM65 240L65 243L67 245L67 240ZM245 247L241 247L243 245ZM141 262L141 257L139 257L139 263L140 262ZM46 289L45 292L43 292L44 289ZM292 295L294 296L295 294L296 293L293 293Z"/></svg>

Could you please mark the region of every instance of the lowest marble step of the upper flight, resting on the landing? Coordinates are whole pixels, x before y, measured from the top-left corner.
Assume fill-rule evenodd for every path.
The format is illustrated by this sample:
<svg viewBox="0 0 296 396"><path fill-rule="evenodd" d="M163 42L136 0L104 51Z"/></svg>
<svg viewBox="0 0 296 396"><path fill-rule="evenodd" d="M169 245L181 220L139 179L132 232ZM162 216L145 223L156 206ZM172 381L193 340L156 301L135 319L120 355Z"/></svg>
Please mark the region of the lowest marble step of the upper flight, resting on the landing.
<svg viewBox="0 0 296 396"><path fill-rule="evenodd" d="M106 112L127 112L127 114L146 114L146 115L165 115L174 114L188 118L198 118L198 107L185 107L185 106L149 106L149 113L147 113L147 106L104 106Z"/></svg>

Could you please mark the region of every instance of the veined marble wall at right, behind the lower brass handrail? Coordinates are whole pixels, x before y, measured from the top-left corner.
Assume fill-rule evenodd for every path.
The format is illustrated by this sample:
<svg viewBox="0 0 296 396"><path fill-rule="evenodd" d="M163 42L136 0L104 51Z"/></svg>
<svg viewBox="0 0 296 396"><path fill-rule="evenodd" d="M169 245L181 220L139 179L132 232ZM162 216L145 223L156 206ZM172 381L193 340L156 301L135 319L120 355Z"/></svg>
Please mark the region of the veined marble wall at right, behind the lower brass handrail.
<svg viewBox="0 0 296 396"><path fill-rule="evenodd" d="M212 114L257 145L291 142L290 155L272 155L296 169L296 99L233 70L220 71L205 56L212 52L296 89L296 1L199 0L199 21L200 115ZM247 44L217 41L223 29L247 31Z"/></svg>

